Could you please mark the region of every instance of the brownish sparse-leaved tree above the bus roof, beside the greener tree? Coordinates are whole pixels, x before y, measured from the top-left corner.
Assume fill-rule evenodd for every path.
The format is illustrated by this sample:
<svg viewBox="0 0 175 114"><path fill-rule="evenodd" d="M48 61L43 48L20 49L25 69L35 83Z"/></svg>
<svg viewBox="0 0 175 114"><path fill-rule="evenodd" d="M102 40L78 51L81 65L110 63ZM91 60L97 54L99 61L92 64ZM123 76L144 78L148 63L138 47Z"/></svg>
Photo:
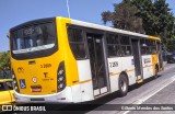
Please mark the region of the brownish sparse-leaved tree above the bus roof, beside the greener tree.
<svg viewBox="0 0 175 114"><path fill-rule="evenodd" d="M143 33L142 19L136 16L137 7L130 4L130 0L122 0L121 3L114 3L114 12L102 12L104 24L112 22L116 29Z"/></svg>

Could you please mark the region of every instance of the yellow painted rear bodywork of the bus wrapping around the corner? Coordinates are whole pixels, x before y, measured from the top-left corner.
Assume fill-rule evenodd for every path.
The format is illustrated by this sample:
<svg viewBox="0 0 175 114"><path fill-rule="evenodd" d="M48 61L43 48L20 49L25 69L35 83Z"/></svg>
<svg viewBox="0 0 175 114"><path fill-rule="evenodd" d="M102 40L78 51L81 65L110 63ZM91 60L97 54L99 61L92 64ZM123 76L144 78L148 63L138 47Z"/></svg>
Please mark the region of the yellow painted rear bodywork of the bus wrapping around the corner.
<svg viewBox="0 0 175 114"><path fill-rule="evenodd" d="M71 23L71 20L65 18L56 19L58 50L51 56L24 60L15 60L14 58L11 58L12 68L16 76L18 83L20 83L20 79L25 80L26 88L20 89L21 94L38 95L57 93L56 77L61 61L65 61L66 66L67 86L73 86L79 82L78 69L75 67L77 61L69 48L69 42L67 38L67 23ZM35 61L35 64L30 65L30 61ZM45 72L47 72L46 77L44 75ZM36 78L36 82L33 81L33 78ZM42 92L32 92L32 87L35 86L42 87Z"/></svg>

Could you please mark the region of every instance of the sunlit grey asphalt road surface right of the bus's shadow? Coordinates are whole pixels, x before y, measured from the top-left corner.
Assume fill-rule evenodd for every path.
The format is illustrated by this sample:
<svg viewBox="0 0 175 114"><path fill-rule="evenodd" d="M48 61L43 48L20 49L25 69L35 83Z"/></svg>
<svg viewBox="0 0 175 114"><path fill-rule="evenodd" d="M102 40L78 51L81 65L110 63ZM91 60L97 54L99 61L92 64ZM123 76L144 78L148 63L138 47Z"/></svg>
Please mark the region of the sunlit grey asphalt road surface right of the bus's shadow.
<svg viewBox="0 0 175 114"><path fill-rule="evenodd" d="M112 98L104 104L175 104L175 65L166 65L158 79L149 79L142 86L132 86L124 98ZM105 109L103 106L101 109ZM113 105L112 105L113 106ZM93 111L88 114L174 114L171 111Z"/></svg>

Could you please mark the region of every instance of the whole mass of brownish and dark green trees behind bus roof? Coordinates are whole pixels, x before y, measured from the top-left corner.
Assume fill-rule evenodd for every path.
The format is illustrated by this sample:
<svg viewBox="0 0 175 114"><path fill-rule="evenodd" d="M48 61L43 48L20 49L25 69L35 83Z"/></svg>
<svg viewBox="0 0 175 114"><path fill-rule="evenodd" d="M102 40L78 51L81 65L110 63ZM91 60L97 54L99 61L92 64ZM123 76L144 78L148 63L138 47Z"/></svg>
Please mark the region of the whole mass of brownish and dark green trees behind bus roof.
<svg viewBox="0 0 175 114"><path fill-rule="evenodd" d="M116 29L159 36L164 49L175 49L175 18L165 0L122 0L114 9L102 12L105 24L112 22Z"/></svg>

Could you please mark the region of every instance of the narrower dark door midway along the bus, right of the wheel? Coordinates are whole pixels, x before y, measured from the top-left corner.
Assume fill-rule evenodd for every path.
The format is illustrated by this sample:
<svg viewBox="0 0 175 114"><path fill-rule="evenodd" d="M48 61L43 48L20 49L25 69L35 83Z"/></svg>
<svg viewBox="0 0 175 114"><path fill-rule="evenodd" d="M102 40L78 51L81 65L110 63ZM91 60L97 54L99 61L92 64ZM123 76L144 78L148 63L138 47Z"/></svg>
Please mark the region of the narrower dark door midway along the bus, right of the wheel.
<svg viewBox="0 0 175 114"><path fill-rule="evenodd" d="M142 67L141 67L142 62L141 62L140 43L139 39L131 39L131 43L132 43L136 80L140 82L143 79Z"/></svg>

